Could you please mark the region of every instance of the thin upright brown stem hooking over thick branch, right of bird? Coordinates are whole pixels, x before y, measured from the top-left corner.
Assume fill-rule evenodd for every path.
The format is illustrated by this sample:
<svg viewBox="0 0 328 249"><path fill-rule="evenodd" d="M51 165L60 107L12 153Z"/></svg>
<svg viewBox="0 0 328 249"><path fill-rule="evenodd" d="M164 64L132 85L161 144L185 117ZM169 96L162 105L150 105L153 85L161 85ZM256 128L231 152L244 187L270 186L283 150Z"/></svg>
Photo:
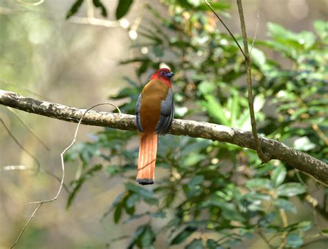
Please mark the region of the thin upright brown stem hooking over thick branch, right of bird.
<svg viewBox="0 0 328 249"><path fill-rule="evenodd" d="M248 107L250 111L250 123L252 124L252 132L254 136L255 148L259 158L262 160L262 163L268 162L270 158L266 158L264 156L261 146L259 145L259 138L257 136L257 128L255 121L255 113L254 113L254 103L253 103L253 90L252 90L252 73L250 69L250 57L248 53L248 42L247 42L247 34L246 34L246 25L244 21L244 11L242 7L242 0L237 0L239 18L240 18L240 26L242 28L242 36L244 41L244 51L246 54L245 65L246 65L246 78L247 78L247 88L248 88Z"/></svg>

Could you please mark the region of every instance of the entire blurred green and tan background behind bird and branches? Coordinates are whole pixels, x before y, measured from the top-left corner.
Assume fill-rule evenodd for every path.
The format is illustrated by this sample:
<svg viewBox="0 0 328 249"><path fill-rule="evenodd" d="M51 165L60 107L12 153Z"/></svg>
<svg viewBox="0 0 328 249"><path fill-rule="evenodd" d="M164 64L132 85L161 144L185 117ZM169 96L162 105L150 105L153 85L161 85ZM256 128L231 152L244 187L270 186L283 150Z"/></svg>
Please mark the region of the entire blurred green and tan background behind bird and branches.
<svg viewBox="0 0 328 249"><path fill-rule="evenodd" d="M250 45L258 131L262 136L280 140L328 163L328 22L324 18L326 15L327 19L327 8L320 12L328 7L327 2L317 1L317 5L313 1L284 3L298 23L304 19L309 23L307 28L297 26L293 29L296 31L277 24L279 19L275 22L263 19L262 11L271 15L278 11L270 10L270 4L274 4L272 1L264 2L266 6L262 6L259 18L248 21L248 7L252 6L256 13L259 2L244 1L246 27L253 30L248 34L249 44L253 44L255 26L259 26L255 42ZM2 12L12 11L8 15L0 15L1 30L6 34L0 37L3 46L1 88L23 93L24 89L33 88L55 102L72 106L90 106L108 97L119 105L123 113L134 114L138 94L149 75L160 66L167 65L176 73L173 84L175 118L250 130L244 57L203 1L136 3L120 0L116 5L107 1L71 1L62 8L62 16L52 17L57 22L48 19L33 21L38 15L53 12L55 3L42 3L38 8L46 8L44 12L21 3L11 4L5 1L0 8ZM242 37L238 35L239 18L235 1L212 1L211 5L224 17L226 24L234 30L237 41L242 44ZM313 15L313 9L318 10L316 15ZM22 10L25 24L16 17ZM83 19L85 12L88 15L86 23ZM311 21L307 19L309 12L313 15ZM129 21L126 16L131 16L134 21ZM114 21L103 19L106 17ZM80 26L78 34L69 28L70 35L62 37L60 26L66 25L64 22L91 24L91 27ZM26 25L26 34L15 32L13 27L17 25ZM99 26L107 29L100 32ZM126 36L120 39L122 35L108 31L111 30L108 26L127 30L129 39ZM111 32L110 38L105 36L107 32ZM58 37L54 37L55 34ZM94 46L93 42L102 38L106 42ZM113 53L101 49L104 46L113 48L111 42L118 46L112 49ZM55 43L59 45L54 50L51 44ZM19 49L21 47L24 49ZM109 63L111 59L107 55L116 55L115 61ZM84 60L84 57L87 59ZM8 62L24 64L8 66ZM46 73L35 70L36 63L47 63L48 67L43 68ZM111 67L109 72L101 70L104 65ZM49 76L47 70L53 75ZM98 81L93 84L110 82L110 88L105 90L104 86L88 84L85 72L88 70L95 71L97 75L95 79ZM67 83L72 79L78 84ZM36 82L39 86L33 86ZM65 93L57 91L57 88L64 88ZM90 93L91 89L96 89L102 96L100 100ZM55 94L48 94L48 91ZM81 102L83 98L89 102ZM13 118L6 110L3 113L3 120L10 124L11 129L21 129L17 122L10 121ZM22 116L26 120L30 118ZM39 131L39 124L33 127ZM55 133L53 139L61 139L66 145L73 136L74 128L73 124L62 124L61 129L68 129L62 138L55 138L58 131L44 128L44 136ZM156 183L144 187L134 182L138 156L136 132L115 129L91 132L90 127L84 127L79 132L82 134L80 139L85 142L79 142L65 156L67 195L51 204L57 207L55 214L47 212L51 205L43 207L43 212L40 211L37 216L41 216L39 219L47 218L44 222L33 222L17 247L33 245L44 248L45 245L48 247L47 241L56 241L57 246L53 248L328 246L327 188L289 165L278 160L261 164L255 151L228 143L166 135L159 140ZM1 140L6 136L1 133ZM24 136L22 138L26 139L25 145L29 149L37 147L35 142ZM57 141L54 146L58 147L58 144ZM59 157L60 152L57 152L64 147L51 152L52 158ZM17 151L17 148L13 150ZM42 152L35 151L35 154L46 158ZM59 160L56 160L49 168L60 175L60 169L55 169L59 168ZM33 165L33 160L26 155L18 161L9 157L1 161L1 165L16 162ZM46 163L44 159L42 164L45 168L51 166ZM26 208L26 203L48 196L50 190L55 192L57 187L57 183L49 183L51 179L44 175L37 176L36 180L28 173L4 174L1 172L4 189L1 207L5 215L0 217L11 230L6 232L1 246L15 239L25 221L21 213L10 211L10 203L17 202L12 200L12 188L17 193L15 199L21 199L23 193L17 189L26 187L23 186L24 181L28 181L31 188L43 184L42 190L37 189L26 195L28 198L24 197L25 203L21 205L24 216L28 217L30 209ZM10 177L12 183L9 184L5 177ZM97 194L97 199L90 199L93 194ZM63 201L66 202L66 211ZM73 216L73 219L67 222L65 215ZM62 219L51 219L51 216ZM73 230L81 216L84 216L83 225ZM57 229L48 228L51 223L55 223ZM64 232L58 233L61 229L70 234L64 236Z"/></svg>

